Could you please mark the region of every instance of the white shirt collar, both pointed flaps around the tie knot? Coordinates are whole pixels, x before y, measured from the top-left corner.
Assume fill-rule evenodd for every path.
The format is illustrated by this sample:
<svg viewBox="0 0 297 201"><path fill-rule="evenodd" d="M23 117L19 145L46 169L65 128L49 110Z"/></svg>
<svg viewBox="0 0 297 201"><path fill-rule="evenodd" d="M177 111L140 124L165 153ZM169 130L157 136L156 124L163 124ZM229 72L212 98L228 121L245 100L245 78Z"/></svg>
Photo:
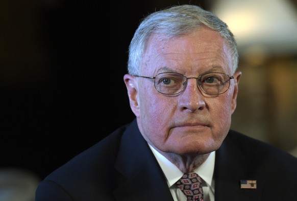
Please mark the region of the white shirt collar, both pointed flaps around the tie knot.
<svg viewBox="0 0 297 201"><path fill-rule="evenodd" d="M182 177L184 173L181 172L176 165L171 163L161 153L159 153L154 147L152 147L150 144L149 146L165 174L168 186L171 187ZM212 185L211 182L214 171L214 159L215 151L211 152L206 161L195 170L195 173L197 173L207 183L208 186Z"/></svg>

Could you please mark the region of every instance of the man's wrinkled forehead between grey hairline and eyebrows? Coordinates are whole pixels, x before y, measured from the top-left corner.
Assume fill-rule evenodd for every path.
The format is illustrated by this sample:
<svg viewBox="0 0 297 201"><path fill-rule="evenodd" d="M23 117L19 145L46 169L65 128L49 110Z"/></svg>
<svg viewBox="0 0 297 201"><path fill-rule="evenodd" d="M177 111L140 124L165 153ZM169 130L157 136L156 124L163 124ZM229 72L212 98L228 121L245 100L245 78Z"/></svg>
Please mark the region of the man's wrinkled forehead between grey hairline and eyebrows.
<svg viewBox="0 0 297 201"><path fill-rule="evenodd" d="M231 73L230 48L225 39L215 31L200 29L178 36L153 34L146 43L140 71L152 73L152 70L155 72L158 67L204 63L203 60L226 66L230 68L228 73Z"/></svg>

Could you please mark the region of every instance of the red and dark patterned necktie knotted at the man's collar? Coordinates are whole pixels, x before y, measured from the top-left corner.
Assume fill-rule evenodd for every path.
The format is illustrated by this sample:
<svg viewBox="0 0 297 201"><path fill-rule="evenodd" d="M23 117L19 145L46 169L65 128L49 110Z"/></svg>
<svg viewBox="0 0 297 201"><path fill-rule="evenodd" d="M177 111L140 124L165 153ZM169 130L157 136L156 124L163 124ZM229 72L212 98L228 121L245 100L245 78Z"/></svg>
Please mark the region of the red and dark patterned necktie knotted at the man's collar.
<svg viewBox="0 0 297 201"><path fill-rule="evenodd" d="M187 196L187 201L203 201L202 179L198 174L194 172L184 174L177 185Z"/></svg>

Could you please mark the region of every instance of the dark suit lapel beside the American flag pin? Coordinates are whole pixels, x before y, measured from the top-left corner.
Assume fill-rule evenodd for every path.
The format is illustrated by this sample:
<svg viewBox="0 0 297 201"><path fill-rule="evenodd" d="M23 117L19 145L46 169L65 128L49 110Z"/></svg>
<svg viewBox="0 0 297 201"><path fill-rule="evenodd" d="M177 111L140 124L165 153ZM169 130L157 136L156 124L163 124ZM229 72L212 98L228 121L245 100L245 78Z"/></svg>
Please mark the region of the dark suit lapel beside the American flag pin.
<svg viewBox="0 0 297 201"><path fill-rule="evenodd" d="M230 134L230 133L229 133ZM246 157L248 150L236 148L229 134L216 151L214 180L215 201L260 200L260 188L240 189L240 180L257 180L251 172L253 163Z"/></svg>

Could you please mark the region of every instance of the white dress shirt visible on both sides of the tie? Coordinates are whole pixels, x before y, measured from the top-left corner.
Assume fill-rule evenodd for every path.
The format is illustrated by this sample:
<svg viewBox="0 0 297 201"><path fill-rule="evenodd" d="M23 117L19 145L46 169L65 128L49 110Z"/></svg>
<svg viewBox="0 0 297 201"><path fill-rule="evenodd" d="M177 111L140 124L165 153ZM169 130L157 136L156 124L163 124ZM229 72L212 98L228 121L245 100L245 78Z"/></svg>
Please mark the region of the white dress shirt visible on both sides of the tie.
<svg viewBox="0 0 297 201"><path fill-rule="evenodd" d="M184 193L177 187L176 182L183 176L183 172L168 161L161 153L159 153L154 147L149 145L152 149L159 165L161 166L163 173L166 177L168 187L175 201L186 201L187 197ZM214 201L214 180L213 180L213 170L214 170L214 159L215 151L211 152L207 160L195 170L203 180L202 188L204 194L204 201Z"/></svg>

